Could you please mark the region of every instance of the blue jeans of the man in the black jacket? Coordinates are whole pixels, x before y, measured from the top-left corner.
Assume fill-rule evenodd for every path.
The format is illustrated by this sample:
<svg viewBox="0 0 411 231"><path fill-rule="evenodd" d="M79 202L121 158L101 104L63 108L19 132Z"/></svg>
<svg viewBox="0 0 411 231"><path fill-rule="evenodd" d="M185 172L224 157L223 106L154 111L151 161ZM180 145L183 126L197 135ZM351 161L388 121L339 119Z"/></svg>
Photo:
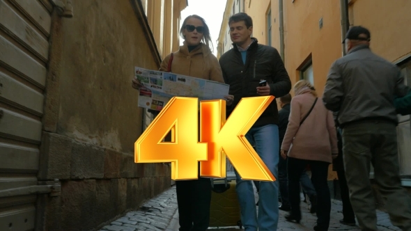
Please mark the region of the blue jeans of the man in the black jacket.
<svg viewBox="0 0 411 231"><path fill-rule="evenodd" d="M277 164L279 161L279 134L277 125L251 127L245 135L249 143L256 145L256 152L276 178L274 182L260 182L258 218L254 200L253 182L242 180L235 170L238 202L240 202L241 221L246 231L276 231L279 216Z"/></svg>

